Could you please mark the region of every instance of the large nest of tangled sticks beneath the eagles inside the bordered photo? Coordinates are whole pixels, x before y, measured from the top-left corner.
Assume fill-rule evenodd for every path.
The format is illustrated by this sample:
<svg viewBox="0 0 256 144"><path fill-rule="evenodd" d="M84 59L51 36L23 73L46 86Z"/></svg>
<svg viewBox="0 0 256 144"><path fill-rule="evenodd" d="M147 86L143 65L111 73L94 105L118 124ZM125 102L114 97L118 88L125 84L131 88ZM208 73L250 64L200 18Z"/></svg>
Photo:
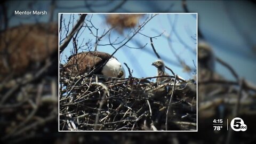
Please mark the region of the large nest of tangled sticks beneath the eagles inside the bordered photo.
<svg viewBox="0 0 256 144"><path fill-rule="evenodd" d="M196 130L196 83L154 78L61 76L60 131Z"/></svg>

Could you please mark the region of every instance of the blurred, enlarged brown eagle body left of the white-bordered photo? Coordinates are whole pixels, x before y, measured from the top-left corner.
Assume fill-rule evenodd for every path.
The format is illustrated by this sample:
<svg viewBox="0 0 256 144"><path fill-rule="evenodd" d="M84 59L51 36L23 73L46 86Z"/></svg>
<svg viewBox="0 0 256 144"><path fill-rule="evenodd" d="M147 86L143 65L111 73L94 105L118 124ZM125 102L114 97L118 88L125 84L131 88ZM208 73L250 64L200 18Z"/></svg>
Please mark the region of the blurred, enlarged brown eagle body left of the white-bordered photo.
<svg viewBox="0 0 256 144"><path fill-rule="evenodd" d="M7 29L0 34L0 75L22 75L33 63L44 61L54 52L58 52L57 23Z"/></svg>

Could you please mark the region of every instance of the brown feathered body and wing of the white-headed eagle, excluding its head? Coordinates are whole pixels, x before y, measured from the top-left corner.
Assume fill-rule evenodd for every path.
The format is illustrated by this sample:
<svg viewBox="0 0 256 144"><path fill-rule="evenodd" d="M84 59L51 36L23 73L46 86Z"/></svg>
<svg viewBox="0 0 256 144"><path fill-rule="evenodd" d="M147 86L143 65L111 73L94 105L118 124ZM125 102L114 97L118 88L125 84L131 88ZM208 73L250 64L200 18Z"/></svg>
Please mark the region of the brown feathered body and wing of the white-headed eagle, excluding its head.
<svg viewBox="0 0 256 144"><path fill-rule="evenodd" d="M65 71L68 71L72 76L81 75L90 72L110 58L110 54L103 52L82 52L71 55L65 65ZM95 74L99 74L95 71Z"/></svg>

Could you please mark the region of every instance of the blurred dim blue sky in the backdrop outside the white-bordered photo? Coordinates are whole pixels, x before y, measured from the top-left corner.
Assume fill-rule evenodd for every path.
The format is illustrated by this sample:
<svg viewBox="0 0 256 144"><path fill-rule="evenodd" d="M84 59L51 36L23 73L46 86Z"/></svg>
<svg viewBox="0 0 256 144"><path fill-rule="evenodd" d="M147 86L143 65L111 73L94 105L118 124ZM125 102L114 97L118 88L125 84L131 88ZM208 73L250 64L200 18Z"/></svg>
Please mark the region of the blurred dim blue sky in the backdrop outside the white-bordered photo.
<svg viewBox="0 0 256 144"><path fill-rule="evenodd" d="M51 1L12 1L8 6L9 25L49 21L50 14L29 17L28 15L14 16L13 13L14 10L50 11L50 3ZM102 5L102 3L105 4ZM88 9L84 1L57 1L58 6L54 10L53 18L57 21L58 12L108 12L119 3L121 1L111 1L107 4L105 1L88 1L88 4L94 5ZM185 12L181 3L182 1L126 1L115 12ZM255 5L248 1L187 1L187 6L190 12L198 12L198 27L215 54L229 63L239 76L256 83L256 53L253 49L256 45ZM148 42L148 39L146 40ZM157 43L155 40L154 42ZM167 63L167 66L171 64ZM227 68L218 64L216 69L225 78L234 79ZM179 71L175 73L180 74Z"/></svg>

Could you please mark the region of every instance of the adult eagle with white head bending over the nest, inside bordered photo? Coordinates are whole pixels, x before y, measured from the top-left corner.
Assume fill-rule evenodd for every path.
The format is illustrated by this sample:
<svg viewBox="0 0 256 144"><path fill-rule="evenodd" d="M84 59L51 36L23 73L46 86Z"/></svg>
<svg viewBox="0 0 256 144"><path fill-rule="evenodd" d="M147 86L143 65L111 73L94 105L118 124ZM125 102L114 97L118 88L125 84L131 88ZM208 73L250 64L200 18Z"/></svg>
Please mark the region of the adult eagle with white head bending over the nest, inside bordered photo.
<svg viewBox="0 0 256 144"><path fill-rule="evenodd" d="M106 65L102 66L105 62ZM116 58L111 57L108 53L98 51L82 52L71 55L64 66L64 69L71 74L71 76L87 74L92 70L95 70L93 74L109 77L124 78L125 76L124 69Z"/></svg>

